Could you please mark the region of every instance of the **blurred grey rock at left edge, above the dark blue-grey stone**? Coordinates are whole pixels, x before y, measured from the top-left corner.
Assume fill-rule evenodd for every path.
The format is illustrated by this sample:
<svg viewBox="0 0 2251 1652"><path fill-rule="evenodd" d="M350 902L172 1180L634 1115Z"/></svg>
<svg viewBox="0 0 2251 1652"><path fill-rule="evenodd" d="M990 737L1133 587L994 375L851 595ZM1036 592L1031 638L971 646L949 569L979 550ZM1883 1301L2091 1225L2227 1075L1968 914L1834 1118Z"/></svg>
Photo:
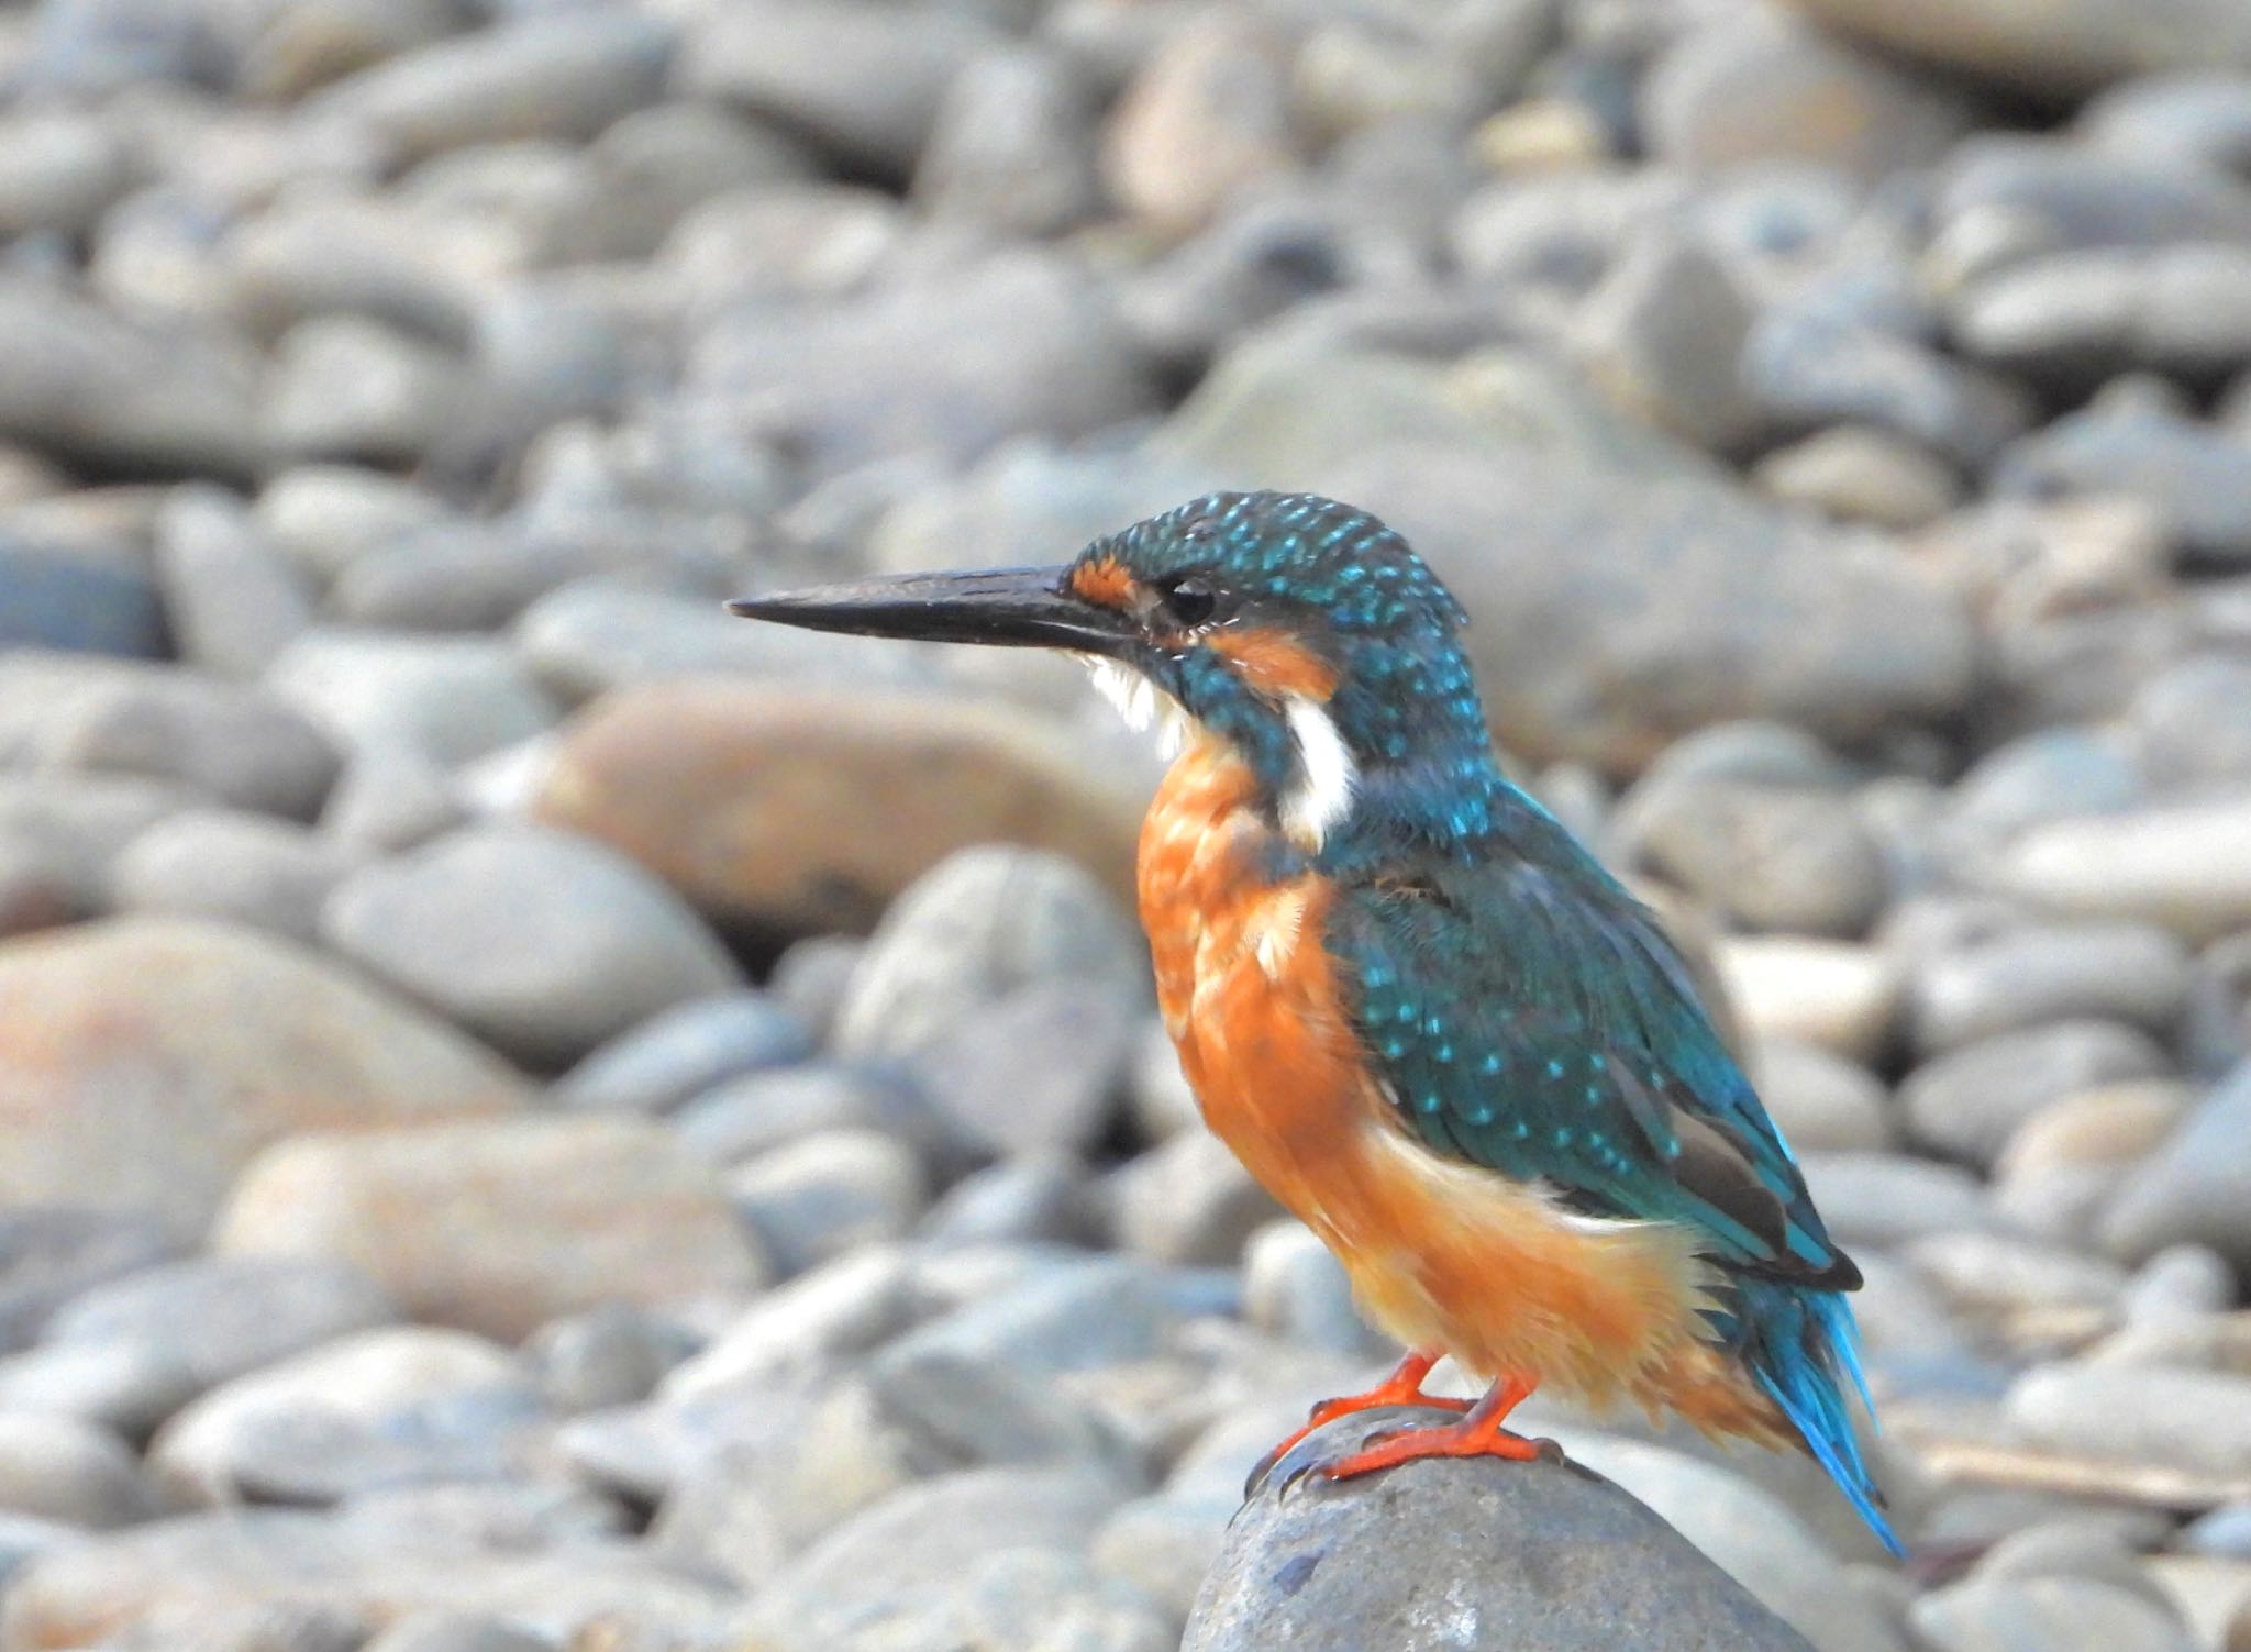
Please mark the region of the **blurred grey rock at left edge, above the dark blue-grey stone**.
<svg viewBox="0 0 2251 1652"><path fill-rule="evenodd" d="M135 322L23 277L0 284L0 437L68 466L241 479L257 439L257 358L187 315Z"/></svg>

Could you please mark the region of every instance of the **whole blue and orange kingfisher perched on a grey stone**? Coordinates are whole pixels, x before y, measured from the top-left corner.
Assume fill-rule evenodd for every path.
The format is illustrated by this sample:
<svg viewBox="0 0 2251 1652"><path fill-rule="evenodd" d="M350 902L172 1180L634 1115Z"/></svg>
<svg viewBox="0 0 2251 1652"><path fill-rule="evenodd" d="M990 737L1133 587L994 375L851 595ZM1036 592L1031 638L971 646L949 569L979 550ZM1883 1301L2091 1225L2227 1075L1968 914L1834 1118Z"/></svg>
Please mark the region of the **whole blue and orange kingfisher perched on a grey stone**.
<svg viewBox="0 0 2251 1652"><path fill-rule="evenodd" d="M1461 605L1384 522L1213 493L1060 567L729 603L1080 655L1173 763L1137 894L1204 1121L1407 1355L1312 1429L1420 1404L1317 1472L1531 1458L1537 1386L1808 1452L1900 1542L1853 1427L1859 1269L1679 950L1492 756ZM1486 1386L1423 1393L1441 1357ZM1871 1407L1873 1411L1873 1407Z"/></svg>

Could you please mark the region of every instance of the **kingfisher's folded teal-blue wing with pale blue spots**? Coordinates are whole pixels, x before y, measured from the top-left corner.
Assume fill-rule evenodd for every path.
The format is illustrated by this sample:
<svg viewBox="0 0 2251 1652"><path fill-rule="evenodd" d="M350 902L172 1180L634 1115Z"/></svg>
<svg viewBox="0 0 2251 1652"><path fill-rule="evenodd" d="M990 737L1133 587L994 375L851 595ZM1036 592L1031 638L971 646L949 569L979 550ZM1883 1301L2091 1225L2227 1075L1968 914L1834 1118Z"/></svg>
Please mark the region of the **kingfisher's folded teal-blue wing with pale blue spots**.
<svg viewBox="0 0 2251 1652"><path fill-rule="evenodd" d="M1328 945L1405 1121L1589 1213L1686 1224L1727 1269L1859 1285L1679 952L1540 824L1544 853L1339 887Z"/></svg>

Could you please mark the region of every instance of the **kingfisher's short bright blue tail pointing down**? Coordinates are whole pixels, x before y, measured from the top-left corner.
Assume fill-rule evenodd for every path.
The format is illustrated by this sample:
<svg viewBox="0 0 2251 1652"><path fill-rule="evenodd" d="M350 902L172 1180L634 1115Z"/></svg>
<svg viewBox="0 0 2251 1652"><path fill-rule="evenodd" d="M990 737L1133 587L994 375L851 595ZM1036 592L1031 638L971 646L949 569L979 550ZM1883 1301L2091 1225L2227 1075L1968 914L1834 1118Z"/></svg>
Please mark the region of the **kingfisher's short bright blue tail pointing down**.
<svg viewBox="0 0 2251 1652"><path fill-rule="evenodd" d="M1742 1357L1783 1413L1805 1438L1805 1449L1837 1481L1859 1517L1868 1521L1884 1546L1902 1555L1898 1533L1884 1519L1884 1494L1868 1474L1868 1463L1853 1434L1853 1407L1846 1393L1857 1393L1868 1420L1868 1380L1859 1373L1859 1335L1853 1308L1832 1290L1803 1290L1778 1281L1747 1278L1742 1294Z"/></svg>

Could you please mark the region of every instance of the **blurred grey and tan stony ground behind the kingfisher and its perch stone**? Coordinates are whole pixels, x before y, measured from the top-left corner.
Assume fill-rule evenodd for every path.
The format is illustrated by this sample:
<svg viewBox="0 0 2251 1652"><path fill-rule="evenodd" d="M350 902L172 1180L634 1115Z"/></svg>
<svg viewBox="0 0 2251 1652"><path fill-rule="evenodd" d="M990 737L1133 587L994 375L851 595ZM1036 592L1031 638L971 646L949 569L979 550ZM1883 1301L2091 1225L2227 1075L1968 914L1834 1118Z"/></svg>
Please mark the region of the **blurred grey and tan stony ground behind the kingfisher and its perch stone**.
<svg viewBox="0 0 2251 1652"><path fill-rule="evenodd" d="M718 599L1301 486L1702 936L1916 1562L1542 1427L1821 1652L2251 1647L2237 0L50 0L0 83L0 1645L1177 1645L1382 1350L1155 1029L1153 756Z"/></svg>

